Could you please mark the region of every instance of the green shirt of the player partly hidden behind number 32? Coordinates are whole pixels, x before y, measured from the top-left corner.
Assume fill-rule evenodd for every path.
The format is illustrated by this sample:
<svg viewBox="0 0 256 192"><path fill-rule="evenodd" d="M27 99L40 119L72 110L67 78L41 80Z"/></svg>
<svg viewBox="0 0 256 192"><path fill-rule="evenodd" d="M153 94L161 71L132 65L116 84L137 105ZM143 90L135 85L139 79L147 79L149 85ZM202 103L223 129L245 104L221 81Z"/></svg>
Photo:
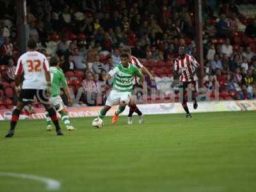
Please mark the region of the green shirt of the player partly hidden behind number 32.
<svg viewBox="0 0 256 192"><path fill-rule="evenodd" d="M60 88L67 87L67 81L65 79L63 71L58 67L50 67L51 72L51 97L60 95Z"/></svg>

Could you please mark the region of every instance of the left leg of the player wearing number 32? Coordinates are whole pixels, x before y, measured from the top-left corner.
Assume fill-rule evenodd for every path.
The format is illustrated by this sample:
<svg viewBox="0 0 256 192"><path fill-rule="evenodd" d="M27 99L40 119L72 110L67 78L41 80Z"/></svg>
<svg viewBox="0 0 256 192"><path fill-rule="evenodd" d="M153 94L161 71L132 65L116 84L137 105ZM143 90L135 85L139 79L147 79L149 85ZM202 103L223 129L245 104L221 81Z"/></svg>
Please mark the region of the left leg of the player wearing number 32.
<svg viewBox="0 0 256 192"><path fill-rule="evenodd" d="M25 102L33 102L34 100L34 93L32 90L21 90L19 95L19 100L17 101L17 107L12 112L12 119L10 123L10 130L6 134L6 138L11 138L14 134L14 130L16 127L16 124L19 120L20 111L25 106Z"/></svg>

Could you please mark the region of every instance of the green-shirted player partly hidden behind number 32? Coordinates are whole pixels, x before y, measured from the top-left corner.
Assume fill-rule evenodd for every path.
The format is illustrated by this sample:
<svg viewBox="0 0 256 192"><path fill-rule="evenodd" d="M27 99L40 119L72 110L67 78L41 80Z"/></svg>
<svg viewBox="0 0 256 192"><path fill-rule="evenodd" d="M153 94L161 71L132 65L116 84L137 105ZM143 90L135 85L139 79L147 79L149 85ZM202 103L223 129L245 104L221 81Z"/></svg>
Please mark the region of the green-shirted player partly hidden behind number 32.
<svg viewBox="0 0 256 192"><path fill-rule="evenodd" d="M68 118L67 111L65 110L65 104L63 103L61 97L60 97L60 87L63 87L63 90L65 94L68 97L68 103L72 104L72 99L70 96L70 92L68 89L68 84L65 79L65 76L59 67L60 60L58 56L52 56L50 59L50 72L51 72L51 99L50 102L52 106L55 108L58 113L61 115L61 120L64 122L65 126L67 127L68 131L74 131L76 128L74 128L70 120ZM52 125L51 125L51 118L49 116L48 112L45 112L46 115L46 123L47 123L47 131L52 130Z"/></svg>

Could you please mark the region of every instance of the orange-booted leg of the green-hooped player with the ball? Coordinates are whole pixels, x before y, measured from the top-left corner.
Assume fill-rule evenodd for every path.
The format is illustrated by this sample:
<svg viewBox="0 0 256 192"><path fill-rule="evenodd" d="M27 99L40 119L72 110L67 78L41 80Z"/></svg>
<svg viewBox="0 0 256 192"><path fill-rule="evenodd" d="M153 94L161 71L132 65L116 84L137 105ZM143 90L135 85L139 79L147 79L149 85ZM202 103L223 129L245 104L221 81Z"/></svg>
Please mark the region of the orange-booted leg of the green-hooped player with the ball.
<svg viewBox="0 0 256 192"><path fill-rule="evenodd" d="M118 121L119 115L125 110L126 105L131 99L131 92L117 93L117 95L120 98L120 104L117 111L113 115L112 124L115 124Z"/></svg>

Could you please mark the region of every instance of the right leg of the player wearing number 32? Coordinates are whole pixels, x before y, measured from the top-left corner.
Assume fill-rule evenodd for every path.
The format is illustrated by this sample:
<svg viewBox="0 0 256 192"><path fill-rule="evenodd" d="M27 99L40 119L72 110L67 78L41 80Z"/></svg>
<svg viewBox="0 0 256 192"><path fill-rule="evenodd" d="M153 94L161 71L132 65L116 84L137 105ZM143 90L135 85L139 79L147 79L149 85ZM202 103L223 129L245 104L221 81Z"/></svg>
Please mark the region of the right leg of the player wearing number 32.
<svg viewBox="0 0 256 192"><path fill-rule="evenodd" d="M56 115L56 111L54 108L52 108L51 102L49 102L49 99L47 98L46 90L37 90L36 99L38 100L38 102L44 104L45 111L49 113L49 116L55 126L57 135L63 135L63 133L61 132L58 117Z"/></svg>

